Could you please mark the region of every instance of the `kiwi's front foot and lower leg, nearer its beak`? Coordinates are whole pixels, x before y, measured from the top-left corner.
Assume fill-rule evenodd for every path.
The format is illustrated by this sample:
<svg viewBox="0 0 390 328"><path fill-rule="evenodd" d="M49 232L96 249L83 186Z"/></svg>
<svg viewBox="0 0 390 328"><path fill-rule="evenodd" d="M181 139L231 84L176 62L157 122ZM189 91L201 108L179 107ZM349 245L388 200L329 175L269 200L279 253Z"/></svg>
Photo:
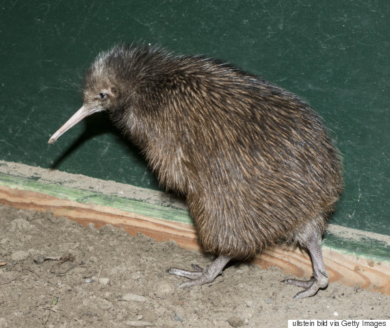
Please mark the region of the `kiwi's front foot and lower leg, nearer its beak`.
<svg viewBox="0 0 390 328"><path fill-rule="evenodd" d="M192 268L194 268L194 271L188 271L179 268L168 268L166 272L172 275L180 275L181 277L191 279L189 281L184 281L183 283L181 283L179 288L200 286L204 283L213 282L214 279L216 279L216 277L218 277L218 275L222 273L223 268L230 260L231 257L220 255L214 262L212 262L205 268L200 268L200 266L192 264Z"/></svg>

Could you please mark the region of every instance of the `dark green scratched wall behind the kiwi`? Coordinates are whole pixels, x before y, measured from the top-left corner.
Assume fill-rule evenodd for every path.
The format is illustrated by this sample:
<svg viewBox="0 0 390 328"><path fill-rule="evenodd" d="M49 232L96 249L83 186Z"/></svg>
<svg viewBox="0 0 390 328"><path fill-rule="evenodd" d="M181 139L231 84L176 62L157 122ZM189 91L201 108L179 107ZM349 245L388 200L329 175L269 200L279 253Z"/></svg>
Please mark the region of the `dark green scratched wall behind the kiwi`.
<svg viewBox="0 0 390 328"><path fill-rule="evenodd" d="M81 76L116 42L232 62L307 99L343 153L333 223L390 235L389 1L2 1L0 159L144 188L157 181L107 116L53 146Z"/></svg>

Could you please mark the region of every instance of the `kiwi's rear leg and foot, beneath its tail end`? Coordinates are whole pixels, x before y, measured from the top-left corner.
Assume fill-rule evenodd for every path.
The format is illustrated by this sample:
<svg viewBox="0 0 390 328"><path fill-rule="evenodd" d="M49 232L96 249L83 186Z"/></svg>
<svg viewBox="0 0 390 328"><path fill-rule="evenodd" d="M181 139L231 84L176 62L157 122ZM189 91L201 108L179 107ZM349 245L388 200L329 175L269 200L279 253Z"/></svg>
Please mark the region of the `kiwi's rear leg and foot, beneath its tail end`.
<svg viewBox="0 0 390 328"><path fill-rule="evenodd" d="M311 256L313 263L313 275L309 280L286 279L285 282L305 288L302 292L298 292L294 299L303 299L304 297L313 296L320 288L328 286L328 275L326 274L324 260L322 260L321 236L313 233L302 246L305 247Z"/></svg>

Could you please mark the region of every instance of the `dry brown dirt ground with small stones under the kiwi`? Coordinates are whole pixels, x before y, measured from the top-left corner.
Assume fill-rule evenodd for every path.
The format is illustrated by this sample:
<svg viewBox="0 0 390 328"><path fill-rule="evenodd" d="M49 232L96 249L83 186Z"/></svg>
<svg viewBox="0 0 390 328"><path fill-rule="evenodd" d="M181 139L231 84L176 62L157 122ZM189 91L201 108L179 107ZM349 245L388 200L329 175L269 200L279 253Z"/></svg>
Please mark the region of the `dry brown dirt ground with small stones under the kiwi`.
<svg viewBox="0 0 390 328"><path fill-rule="evenodd" d="M2 327L287 327L287 319L389 319L390 297L330 283L315 297L278 268L232 264L179 289L166 268L213 257L174 242L0 206Z"/></svg>

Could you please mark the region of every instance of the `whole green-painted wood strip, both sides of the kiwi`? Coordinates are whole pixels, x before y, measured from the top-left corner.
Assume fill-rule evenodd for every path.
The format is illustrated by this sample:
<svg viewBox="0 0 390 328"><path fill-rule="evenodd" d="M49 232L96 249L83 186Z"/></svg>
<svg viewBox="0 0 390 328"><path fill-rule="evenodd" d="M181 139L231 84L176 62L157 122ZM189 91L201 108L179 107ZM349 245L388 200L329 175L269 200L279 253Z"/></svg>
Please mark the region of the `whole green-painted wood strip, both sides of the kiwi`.
<svg viewBox="0 0 390 328"><path fill-rule="evenodd" d="M100 192L70 188L61 186L60 184L51 184L47 181L39 181L39 179L37 180L34 177L16 177L0 173L0 185L49 194L53 197L77 201L79 203L92 203L116 207L126 212L194 225L188 212L177 207L155 205L147 203L146 201L138 201L125 197L109 196ZM327 249L337 251L338 253L354 255L356 257L367 257L382 262L390 262L389 245L374 238L352 240L326 232L324 234L323 245Z"/></svg>

